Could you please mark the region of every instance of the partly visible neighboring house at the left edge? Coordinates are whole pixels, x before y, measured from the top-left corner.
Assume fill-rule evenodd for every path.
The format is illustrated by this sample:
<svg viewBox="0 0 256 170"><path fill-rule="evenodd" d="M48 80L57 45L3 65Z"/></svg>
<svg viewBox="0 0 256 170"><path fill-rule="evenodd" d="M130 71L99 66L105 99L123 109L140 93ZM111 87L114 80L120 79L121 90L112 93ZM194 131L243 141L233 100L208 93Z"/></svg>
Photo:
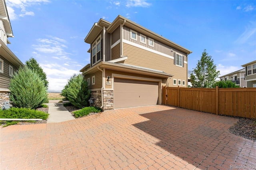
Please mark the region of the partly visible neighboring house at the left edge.
<svg viewBox="0 0 256 170"><path fill-rule="evenodd" d="M9 101L9 83L14 72L24 65L7 47L8 37L14 37L5 0L0 0L0 108Z"/></svg>

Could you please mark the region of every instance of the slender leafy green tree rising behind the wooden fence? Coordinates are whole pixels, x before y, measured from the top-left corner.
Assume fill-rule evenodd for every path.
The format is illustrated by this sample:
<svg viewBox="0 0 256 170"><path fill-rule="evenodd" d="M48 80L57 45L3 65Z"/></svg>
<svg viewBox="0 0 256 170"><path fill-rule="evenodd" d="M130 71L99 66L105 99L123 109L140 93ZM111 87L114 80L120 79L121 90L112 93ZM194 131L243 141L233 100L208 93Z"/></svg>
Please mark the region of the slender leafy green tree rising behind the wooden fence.
<svg viewBox="0 0 256 170"><path fill-rule="evenodd" d="M212 56L206 53L206 49L202 53L201 59L198 60L194 74L190 75L192 87L212 88L216 82L216 78L220 75L220 71L213 62Z"/></svg>

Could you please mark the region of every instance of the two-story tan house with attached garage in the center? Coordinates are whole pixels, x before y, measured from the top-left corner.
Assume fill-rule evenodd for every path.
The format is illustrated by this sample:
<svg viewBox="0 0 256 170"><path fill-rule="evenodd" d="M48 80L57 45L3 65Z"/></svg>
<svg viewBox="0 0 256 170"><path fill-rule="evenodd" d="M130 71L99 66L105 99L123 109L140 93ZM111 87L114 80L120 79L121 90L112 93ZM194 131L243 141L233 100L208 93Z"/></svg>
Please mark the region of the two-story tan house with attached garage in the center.
<svg viewBox="0 0 256 170"><path fill-rule="evenodd" d="M103 110L162 104L162 86L187 87L192 51L124 18L100 19L84 39L90 64L80 72Z"/></svg>

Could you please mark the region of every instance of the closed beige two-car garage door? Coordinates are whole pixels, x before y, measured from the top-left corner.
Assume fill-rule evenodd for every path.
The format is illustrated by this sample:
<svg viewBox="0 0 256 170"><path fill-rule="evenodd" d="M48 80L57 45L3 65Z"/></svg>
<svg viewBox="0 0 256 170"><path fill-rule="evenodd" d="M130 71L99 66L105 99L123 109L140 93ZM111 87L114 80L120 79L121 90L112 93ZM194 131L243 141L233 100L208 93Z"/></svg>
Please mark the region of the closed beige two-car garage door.
<svg viewBox="0 0 256 170"><path fill-rule="evenodd" d="M158 104L158 82L114 78L114 109Z"/></svg>

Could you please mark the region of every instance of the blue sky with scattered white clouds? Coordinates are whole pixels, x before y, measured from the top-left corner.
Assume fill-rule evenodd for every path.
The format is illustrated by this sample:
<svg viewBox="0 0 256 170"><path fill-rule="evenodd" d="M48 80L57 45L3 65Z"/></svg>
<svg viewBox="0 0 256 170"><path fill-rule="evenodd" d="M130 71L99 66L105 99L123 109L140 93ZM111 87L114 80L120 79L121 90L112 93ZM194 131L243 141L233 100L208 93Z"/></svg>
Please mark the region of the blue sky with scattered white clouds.
<svg viewBox="0 0 256 170"><path fill-rule="evenodd" d="M48 91L90 62L84 38L94 22L120 14L193 51L188 69L204 49L220 75L256 60L256 1L6 0L14 38L8 47L25 63L34 57L47 74Z"/></svg>

